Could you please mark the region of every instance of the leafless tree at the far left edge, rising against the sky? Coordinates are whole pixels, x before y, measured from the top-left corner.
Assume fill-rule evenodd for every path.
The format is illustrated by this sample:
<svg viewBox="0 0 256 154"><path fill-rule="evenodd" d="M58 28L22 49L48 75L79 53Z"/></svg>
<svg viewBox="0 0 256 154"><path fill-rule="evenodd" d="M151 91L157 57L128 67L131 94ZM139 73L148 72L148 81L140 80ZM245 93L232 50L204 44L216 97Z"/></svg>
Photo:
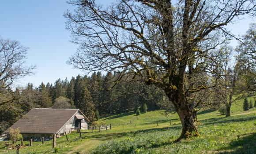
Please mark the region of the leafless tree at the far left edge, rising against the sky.
<svg viewBox="0 0 256 154"><path fill-rule="evenodd" d="M26 67L26 51L18 41L0 37L0 107L13 102L14 95L8 89L14 81L32 74L35 66Z"/></svg>

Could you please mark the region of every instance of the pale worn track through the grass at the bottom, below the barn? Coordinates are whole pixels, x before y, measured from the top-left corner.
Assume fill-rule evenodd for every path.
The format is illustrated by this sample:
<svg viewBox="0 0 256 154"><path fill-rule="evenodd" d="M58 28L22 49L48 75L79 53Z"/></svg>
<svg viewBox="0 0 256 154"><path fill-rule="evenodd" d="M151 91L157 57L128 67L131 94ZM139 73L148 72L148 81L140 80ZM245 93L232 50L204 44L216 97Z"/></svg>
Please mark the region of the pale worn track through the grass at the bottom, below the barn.
<svg viewBox="0 0 256 154"><path fill-rule="evenodd" d="M101 142L102 141L98 139L88 139L85 142L81 143L79 146L70 149L67 154L87 154L89 150L91 150Z"/></svg>

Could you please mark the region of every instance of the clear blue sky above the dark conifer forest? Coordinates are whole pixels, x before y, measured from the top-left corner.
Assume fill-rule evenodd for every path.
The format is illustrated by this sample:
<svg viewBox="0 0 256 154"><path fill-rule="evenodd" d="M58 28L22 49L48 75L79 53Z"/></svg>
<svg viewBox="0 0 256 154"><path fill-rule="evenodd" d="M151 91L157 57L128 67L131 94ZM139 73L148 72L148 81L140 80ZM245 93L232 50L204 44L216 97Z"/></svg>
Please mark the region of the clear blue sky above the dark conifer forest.
<svg viewBox="0 0 256 154"><path fill-rule="evenodd" d="M63 13L67 9L72 6L66 0L0 0L0 36L29 47L26 65L37 66L35 75L24 77L15 86L25 86L28 82L38 86L42 81L54 83L58 78L86 74L66 64L77 48L69 42L70 32L65 29ZM236 35L244 34L252 21L243 19L227 28ZM235 46L236 41L230 45Z"/></svg>

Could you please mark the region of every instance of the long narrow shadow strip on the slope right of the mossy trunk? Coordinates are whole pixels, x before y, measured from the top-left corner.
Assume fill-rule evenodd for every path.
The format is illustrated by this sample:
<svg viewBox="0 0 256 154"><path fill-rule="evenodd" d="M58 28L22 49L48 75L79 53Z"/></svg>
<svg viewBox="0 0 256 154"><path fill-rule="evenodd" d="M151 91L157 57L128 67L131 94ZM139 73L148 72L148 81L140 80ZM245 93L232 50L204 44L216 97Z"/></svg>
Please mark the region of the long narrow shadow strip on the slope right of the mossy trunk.
<svg viewBox="0 0 256 154"><path fill-rule="evenodd" d="M203 125L230 123L230 122L242 122L242 121L252 121L256 119L256 116L250 117L215 117L211 119L202 120Z"/></svg>

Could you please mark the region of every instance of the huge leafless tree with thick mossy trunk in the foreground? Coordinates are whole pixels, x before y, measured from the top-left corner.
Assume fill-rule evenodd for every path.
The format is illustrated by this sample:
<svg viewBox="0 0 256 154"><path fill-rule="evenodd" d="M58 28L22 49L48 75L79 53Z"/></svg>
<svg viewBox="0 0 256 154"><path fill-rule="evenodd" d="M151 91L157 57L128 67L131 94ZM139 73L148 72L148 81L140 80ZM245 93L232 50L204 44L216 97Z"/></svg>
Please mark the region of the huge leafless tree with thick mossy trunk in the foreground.
<svg viewBox="0 0 256 154"><path fill-rule="evenodd" d="M161 88L182 124L179 139L199 135L187 95L216 86L219 53L232 36L225 26L255 15L253 0L118 0L109 7L94 0L70 0L66 26L80 44L68 63L88 71L132 73ZM207 85L187 84L194 72ZM122 76L120 76L122 77ZM178 140L179 140L178 139Z"/></svg>

